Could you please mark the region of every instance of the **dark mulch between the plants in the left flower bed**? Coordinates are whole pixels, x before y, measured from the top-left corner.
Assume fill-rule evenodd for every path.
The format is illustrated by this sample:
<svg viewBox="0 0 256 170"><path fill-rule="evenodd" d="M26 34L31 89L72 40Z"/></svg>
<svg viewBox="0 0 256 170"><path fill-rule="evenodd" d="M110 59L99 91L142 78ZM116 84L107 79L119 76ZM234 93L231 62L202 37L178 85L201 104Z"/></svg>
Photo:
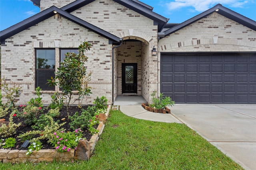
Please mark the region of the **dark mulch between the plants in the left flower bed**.
<svg viewBox="0 0 256 170"><path fill-rule="evenodd" d="M81 113L82 112L82 109L86 109L88 106L82 106L82 108L78 108L77 106L70 106L69 108L69 115L74 115L74 113L76 113L76 111L78 111L78 113ZM49 108L47 107L43 107L42 108L44 111L42 114L45 114L48 112ZM11 111L10 111L11 113ZM6 121L9 121L9 116L10 116L10 113L8 115L6 115L6 117L3 117L4 119L6 119ZM40 115L39 115L40 116ZM38 117L39 117L38 116ZM62 118L65 118L64 121L62 121L61 119ZM26 124L24 124L24 118L22 117L13 117L13 122L18 124L18 123L22 123L22 125L20 125L20 127L18 127L16 129L16 134L15 135L12 135L10 137L13 137L16 139L16 147L13 147L12 149L27 149L27 148L23 148L21 147L22 144L24 143L23 141L21 141L20 138L17 138L17 136L21 135L22 133L26 133L28 131L33 131L34 129L32 129L31 126L28 126ZM70 126L68 123L70 123L70 119L68 119L68 116L67 116L67 111L66 111L66 107L64 106L62 109L60 109L60 115L58 117L55 117L54 118L54 121L57 121L57 120L60 120L59 123L63 123L63 122L66 122L62 127L64 129L66 129L66 131L73 131L72 129L70 129ZM61 127L61 128L62 128ZM83 138L86 138L86 140L90 141L91 137L92 137L92 134L90 134L87 130L83 131L84 133L84 136ZM47 140L41 140L41 142L43 143L43 148L42 149L54 149L54 147L52 147L50 144L47 143Z"/></svg>

